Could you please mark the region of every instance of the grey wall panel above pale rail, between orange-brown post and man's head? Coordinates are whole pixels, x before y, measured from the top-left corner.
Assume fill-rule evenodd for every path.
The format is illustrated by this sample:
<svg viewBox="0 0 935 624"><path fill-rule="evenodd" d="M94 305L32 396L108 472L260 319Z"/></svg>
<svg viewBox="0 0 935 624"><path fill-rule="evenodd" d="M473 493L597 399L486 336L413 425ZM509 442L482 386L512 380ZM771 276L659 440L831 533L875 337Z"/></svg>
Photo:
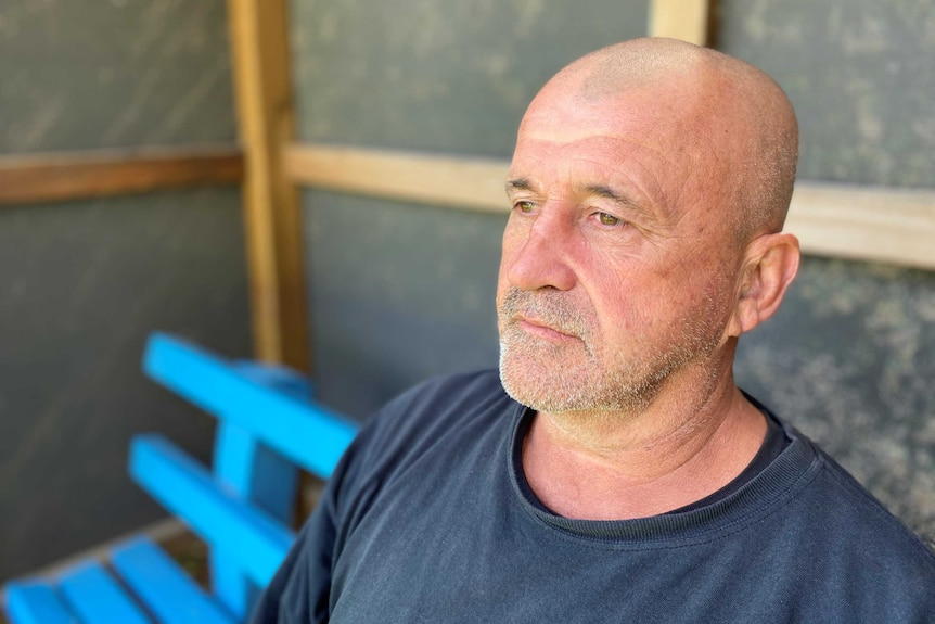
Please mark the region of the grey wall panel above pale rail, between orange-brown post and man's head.
<svg viewBox="0 0 935 624"><path fill-rule="evenodd" d="M646 31L648 3L293 0L299 136L507 156L541 85Z"/></svg>

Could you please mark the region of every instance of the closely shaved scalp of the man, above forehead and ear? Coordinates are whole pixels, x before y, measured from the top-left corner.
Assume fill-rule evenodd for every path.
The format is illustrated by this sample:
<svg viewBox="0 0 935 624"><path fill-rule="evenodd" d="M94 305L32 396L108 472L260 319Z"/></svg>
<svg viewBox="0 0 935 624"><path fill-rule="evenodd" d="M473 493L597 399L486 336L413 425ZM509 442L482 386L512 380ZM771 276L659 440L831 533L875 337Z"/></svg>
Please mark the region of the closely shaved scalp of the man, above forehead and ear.
<svg viewBox="0 0 935 624"><path fill-rule="evenodd" d="M683 41L635 39L562 69L529 111L559 101L604 111L619 102L619 115L644 115L646 126L658 128L659 150L695 158L700 183L709 186L707 207L730 211L741 241L782 229L798 127L789 99L764 72Z"/></svg>

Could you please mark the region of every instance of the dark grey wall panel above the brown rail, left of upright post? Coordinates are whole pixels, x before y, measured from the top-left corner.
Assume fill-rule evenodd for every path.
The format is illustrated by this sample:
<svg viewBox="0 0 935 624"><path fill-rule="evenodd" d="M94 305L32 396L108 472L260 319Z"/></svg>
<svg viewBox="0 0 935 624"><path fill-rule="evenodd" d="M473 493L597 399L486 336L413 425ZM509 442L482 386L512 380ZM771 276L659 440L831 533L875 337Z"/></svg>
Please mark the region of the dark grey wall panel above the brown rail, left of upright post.
<svg viewBox="0 0 935 624"><path fill-rule="evenodd" d="M223 0L0 3L0 152L232 141Z"/></svg>

